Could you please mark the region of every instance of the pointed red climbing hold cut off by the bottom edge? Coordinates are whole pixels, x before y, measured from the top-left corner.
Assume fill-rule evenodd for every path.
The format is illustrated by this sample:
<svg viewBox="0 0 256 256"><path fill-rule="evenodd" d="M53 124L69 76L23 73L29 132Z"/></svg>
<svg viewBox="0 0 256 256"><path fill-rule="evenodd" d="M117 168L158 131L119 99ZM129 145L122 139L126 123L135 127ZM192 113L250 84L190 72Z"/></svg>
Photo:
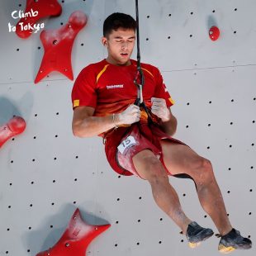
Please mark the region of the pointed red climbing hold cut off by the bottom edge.
<svg viewBox="0 0 256 256"><path fill-rule="evenodd" d="M109 227L110 224L88 225L83 221L77 208L59 241L52 248L36 256L86 256L88 244Z"/></svg>

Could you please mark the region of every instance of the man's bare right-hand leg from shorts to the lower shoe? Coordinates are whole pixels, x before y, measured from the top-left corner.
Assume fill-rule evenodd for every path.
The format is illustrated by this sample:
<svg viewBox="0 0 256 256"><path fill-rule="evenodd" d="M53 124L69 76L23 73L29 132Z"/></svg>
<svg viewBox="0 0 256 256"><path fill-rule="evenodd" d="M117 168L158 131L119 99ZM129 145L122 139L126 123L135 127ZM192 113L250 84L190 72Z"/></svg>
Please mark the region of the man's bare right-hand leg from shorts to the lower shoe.
<svg viewBox="0 0 256 256"><path fill-rule="evenodd" d="M220 188L216 183L211 162L202 158L186 145L161 141L164 164L173 174L186 173L197 185L197 195L203 209L211 216L220 235L232 229L225 210Z"/></svg>

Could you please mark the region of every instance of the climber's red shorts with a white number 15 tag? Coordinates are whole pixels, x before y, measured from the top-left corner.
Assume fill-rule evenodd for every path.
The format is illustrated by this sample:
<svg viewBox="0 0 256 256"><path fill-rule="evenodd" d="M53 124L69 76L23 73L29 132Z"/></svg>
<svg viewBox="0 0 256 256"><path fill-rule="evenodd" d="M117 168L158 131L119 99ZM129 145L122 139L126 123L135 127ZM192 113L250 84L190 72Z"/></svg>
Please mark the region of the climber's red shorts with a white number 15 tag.
<svg viewBox="0 0 256 256"><path fill-rule="evenodd" d="M133 164L132 158L144 149L150 149L165 167L160 140L170 140L183 144L182 141L173 139L164 133L157 125L133 124L130 127L120 127L107 136L105 153L111 168L121 175L135 175L140 177Z"/></svg>

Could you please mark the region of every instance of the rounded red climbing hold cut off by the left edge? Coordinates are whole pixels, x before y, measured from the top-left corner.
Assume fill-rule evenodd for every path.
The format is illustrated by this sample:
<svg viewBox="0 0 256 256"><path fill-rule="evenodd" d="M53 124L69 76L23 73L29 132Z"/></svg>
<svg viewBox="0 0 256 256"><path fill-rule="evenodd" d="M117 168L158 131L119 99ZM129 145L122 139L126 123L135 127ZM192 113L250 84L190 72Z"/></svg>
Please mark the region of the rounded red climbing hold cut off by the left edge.
<svg viewBox="0 0 256 256"><path fill-rule="evenodd" d="M0 126L0 148L10 138L21 134L26 128L26 122L21 116L14 116L7 124Z"/></svg>

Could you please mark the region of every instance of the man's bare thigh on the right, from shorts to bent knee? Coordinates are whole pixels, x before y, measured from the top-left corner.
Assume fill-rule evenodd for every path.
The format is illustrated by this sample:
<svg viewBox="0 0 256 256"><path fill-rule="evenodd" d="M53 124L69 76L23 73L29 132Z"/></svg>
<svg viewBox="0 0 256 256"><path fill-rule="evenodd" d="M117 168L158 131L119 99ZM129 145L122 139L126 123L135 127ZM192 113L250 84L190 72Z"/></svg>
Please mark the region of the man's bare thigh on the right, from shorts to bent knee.
<svg viewBox="0 0 256 256"><path fill-rule="evenodd" d="M173 175L186 173L194 178L200 174L202 165L208 162L187 145L170 140L161 140L160 143L165 167Z"/></svg>

